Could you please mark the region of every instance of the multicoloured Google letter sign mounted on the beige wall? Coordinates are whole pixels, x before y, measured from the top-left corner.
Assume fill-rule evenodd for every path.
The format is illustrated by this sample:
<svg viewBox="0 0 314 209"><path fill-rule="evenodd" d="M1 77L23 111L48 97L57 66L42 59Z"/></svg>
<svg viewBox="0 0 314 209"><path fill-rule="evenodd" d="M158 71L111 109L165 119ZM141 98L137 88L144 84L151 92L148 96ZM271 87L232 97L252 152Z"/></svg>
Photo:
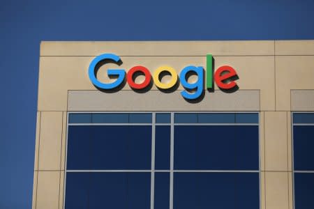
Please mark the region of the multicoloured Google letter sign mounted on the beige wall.
<svg viewBox="0 0 314 209"><path fill-rule="evenodd" d="M199 98L200 95L202 95L202 93L204 92L205 73L206 88L209 90L212 90L214 88L214 81L216 82L217 86L222 90L227 91L237 87L237 83L234 82L234 80L236 80L238 77L237 72L234 70L234 68L229 65L223 65L220 66L214 73L213 56L211 54L207 54L206 72L204 72L204 68L201 66L188 65L181 70L178 77L177 71L174 70L174 68L168 65L162 65L157 68L151 75L151 72L149 72L147 68L142 65L136 65L130 68L127 73L124 69L108 69L107 75L109 77L117 77L117 79L110 84L100 82L96 77L97 65L101 62L110 62L119 65L119 63L121 63L121 59L115 54L101 54L99 56L96 56L96 58L91 61L91 64L89 65L89 79L91 80L91 83L94 84L94 86L103 90L110 90L121 86L121 84L124 83L125 78L130 88L133 88L134 90L147 88L153 80L157 88L165 91L174 88L174 86L177 85L178 81L180 81L181 85L185 89L184 91L181 91L181 95L186 100L195 100ZM165 75L165 73L171 76L170 82L161 82L160 79L163 77L163 75ZM197 81L194 83L188 82L188 77L191 74L197 75ZM144 75L144 82L140 84L135 83L135 77L137 77L138 75Z"/></svg>

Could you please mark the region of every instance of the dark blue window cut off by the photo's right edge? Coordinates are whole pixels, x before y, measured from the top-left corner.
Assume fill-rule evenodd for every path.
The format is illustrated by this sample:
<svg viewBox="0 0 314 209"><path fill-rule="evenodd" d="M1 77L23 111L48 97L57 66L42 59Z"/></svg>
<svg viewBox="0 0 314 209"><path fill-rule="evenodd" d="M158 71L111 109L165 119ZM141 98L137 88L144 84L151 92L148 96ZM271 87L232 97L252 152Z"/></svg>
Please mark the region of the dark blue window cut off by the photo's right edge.
<svg viewBox="0 0 314 209"><path fill-rule="evenodd" d="M294 208L314 208L314 113L293 113Z"/></svg>

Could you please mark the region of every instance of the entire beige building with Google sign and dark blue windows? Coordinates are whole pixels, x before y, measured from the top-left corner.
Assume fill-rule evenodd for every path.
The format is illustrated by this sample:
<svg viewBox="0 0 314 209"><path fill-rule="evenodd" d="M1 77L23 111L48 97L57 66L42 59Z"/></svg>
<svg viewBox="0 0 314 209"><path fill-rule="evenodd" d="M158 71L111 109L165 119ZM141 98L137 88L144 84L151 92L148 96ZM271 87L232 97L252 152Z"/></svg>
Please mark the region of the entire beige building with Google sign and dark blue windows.
<svg viewBox="0 0 314 209"><path fill-rule="evenodd" d="M313 40L42 42L33 208L314 208L313 79Z"/></svg>

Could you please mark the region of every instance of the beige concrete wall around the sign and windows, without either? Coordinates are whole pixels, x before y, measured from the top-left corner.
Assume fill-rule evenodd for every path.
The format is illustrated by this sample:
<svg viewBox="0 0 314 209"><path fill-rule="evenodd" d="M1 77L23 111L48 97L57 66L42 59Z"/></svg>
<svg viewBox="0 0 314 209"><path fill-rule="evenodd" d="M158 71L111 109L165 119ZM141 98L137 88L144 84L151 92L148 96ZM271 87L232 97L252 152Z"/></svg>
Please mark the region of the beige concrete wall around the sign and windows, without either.
<svg viewBox="0 0 314 209"><path fill-rule="evenodd" d="M67 111L73 110L72 107L83 108L70 103L74 101L74 91L92 90L96 95L103 94L91 84L87 75L91 60L103 53L120 56L124 62L121 67L126 70L133 65L144 65L151 72L160 65L170 65L177 72L186 65L206 67L206 54L213 54L215 69L220 65L232 65L239 75L238 94L220 96L219 91L208 93L203 101L205 103L193 107L186 104L184 98L174 96L171 105L163 103L163 107L168 111L182 108L194 111L242 110L239 107L260 111L261 206L263 209L292 209L291 111L314 109L314 40L42 42L33 208L63 207ZM116 66L108 64L100 68L98 75L104 82L108 81L105 77L107 67ZM179 86L173 95L179 94L181 89L182 86ZM241 91L258 92L258 96L243 96ZM121 92L112 94L122 110L133 100L131 92L126 85ZM145 93L143 98L154 98L156 93L160 94L153 86L152 91ZM228 97L243 103L214 108ZM207 101L213 98L216 103ZM92 101L89 102L92 104ZM105 105L91 104L88 104L89 111L107 109ZM141 107L142 110L156 108L153 104L146 104L146 107Z"/></svg>

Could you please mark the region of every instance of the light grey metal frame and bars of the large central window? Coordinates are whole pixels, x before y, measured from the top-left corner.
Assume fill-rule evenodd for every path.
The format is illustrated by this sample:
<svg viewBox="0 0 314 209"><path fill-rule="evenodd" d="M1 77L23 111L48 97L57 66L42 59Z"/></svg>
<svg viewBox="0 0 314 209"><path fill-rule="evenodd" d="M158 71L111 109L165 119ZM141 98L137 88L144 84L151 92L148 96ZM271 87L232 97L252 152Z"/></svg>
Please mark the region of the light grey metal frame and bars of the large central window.
<svg viewBox="0 0 314 209"><path fill-rule="evenodd" d="M70 170L67 169L67 155L68 155L68 127L69 125L91 125L92 123L69 123L70 114L151 114L151 123L101 123L98 125L151 125L152 127L152 137L151 137L151 170L135 170L136 172L151 173L151 198L150 198L150 209L154 209L154 173L156 172L167 172L170 174L170 209L173 209L173 192L174 192L174 172L184 172L174 170L174 126L175 125L257 125L258 130L258 171L246 171L246 170L221 170L212 171L206 170L205 172L234 172L234 173L259 173L259 208L262 208L262 192L261 192L261 140L260 140L260 111L67 111L66 117L66 148L65 148L65 162L64 162L64 176L63 176L63 208L66 206L66 173ZM174 123L174 114L257 114L257 123ZM170 123L156 123L156 114L170 114ZM156 126L159 125L170 125L170 170L157 170L155 166L155 136L156 136ZM292 150L293 151L293 150ZM293 168L292 168L293 169ZM116 170L115 170L116 171ZM195 170L195 172L202 170ZM92 172L92 171L89 171ZM100 172L106 172L101 170ZM121 170L121 172L134 172L133 170ZM189 171L194 172L194 170Z"/></svg>

